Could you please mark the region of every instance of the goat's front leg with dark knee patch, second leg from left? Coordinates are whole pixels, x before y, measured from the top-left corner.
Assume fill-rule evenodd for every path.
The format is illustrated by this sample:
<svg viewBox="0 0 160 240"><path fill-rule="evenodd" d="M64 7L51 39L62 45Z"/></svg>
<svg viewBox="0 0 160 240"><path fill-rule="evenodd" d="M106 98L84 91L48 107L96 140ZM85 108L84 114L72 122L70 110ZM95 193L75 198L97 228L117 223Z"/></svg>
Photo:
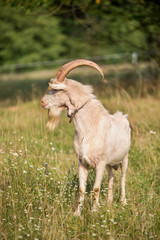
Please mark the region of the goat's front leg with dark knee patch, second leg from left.
<svg viewBox="0 0 160 240"><path fill-rule="evenodd" d="M94 202L93 202L92 211L96 211L97 207L99 206L99 193L100 193L102 178L104 175L104 169L105 169L104 163L98 164L96 167L96 179L93 186Z"/></svg>

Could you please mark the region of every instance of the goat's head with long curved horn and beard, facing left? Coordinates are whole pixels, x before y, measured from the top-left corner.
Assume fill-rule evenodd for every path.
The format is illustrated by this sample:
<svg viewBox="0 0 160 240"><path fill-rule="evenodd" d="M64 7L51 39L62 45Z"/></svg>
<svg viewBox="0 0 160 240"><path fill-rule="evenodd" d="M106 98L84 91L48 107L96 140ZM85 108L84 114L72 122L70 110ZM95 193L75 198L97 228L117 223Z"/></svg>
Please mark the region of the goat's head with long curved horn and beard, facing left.
<svg viewBox="0 0 160 240"><path fill-rule="evenodd" d="M95 68L104 77L101 68L89 60L78 59L64 64L57 72L55 78L50 80L49 88L41 101L42 107L49 110L47 126L51 130L57 125L59 115L63 109L66 109L68 115L70 115L73 109L80 107L77 104L82 105L86 101L87 91L91 92L89 87L81 89L79 83L65 78L73 68L82 65Z"/></svg>

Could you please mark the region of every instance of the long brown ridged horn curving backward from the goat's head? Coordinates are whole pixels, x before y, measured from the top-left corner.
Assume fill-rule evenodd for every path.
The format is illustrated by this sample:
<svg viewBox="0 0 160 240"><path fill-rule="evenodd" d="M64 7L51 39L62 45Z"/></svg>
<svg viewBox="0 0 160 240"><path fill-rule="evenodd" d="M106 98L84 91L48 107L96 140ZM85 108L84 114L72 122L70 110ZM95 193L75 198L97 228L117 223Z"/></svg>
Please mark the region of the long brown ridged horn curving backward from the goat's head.
<svg viewBox="0 0 160 240"><path fill-rule="evenodd" d="M77 59L77 60L74 60L74 61L71 61L71 62L68 62L68 63L64 64L59 69L59 71L56 73L55 78L58 80L58 82L63 82L65 77L66 77L66 75L73 68L76 68L76 67L79 67L79 66L83 66L83 65L95 68L102 75L102 77L104 78L104 74L102 72L102 69L95 62L92 62L92 61L86 60L86 59Z"/></svg>

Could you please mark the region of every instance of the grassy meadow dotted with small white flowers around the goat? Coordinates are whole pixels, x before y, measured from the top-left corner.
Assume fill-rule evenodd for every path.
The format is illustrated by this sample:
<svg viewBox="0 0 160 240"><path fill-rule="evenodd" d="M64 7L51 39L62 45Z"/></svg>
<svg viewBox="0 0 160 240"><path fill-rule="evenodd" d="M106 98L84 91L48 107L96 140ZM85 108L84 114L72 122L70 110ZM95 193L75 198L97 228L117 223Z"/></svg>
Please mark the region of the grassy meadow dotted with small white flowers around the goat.
<svg viewBox="0 0 160 240"><path fill-rule="evenodd" d="M120 110L129 115L132 145L127 205L120 203L120 170L114 171L113 205L107 205L106 172L101 206L93 213L95 172L90 169L81 217L73 216L78 197L73 123L63 113L54 132L46 128L47 112L40 100L47 81L41 89L35 89L31 80L24 80L26 85L22 79L1 82L8 92L3 91L0 101L0 239L160 239L160 94L157 88L153 94L153 89L138 85L141 80L137 80L137 89L132 85L129 91L107 88L107 82L93 84L110 113ZM17 86L22 89L15 97Z"/></svg>

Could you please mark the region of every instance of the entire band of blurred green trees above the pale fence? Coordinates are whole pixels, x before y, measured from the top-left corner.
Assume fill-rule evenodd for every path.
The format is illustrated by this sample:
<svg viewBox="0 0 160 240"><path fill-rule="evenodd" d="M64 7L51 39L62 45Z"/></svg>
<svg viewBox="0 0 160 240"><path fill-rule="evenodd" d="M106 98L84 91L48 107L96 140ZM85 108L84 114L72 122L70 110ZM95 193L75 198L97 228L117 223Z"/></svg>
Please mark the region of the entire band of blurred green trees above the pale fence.
<svg viewBox="0 0 160 240"><path fill-rule="evenodd" d="M158 1L0 3L1 64L145 51L160 62Z"/></svg>

